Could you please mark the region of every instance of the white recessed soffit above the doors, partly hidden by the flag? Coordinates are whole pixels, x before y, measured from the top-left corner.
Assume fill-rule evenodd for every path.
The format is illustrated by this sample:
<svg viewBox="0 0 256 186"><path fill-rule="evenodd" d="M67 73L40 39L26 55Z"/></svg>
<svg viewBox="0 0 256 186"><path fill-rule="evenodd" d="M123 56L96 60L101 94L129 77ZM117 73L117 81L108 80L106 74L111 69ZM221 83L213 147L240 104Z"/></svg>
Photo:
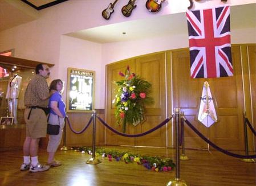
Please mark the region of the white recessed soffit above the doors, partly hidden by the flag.
<svg viewBox="0 0 256 186"><path fill-rule="evenodd" d="M231 6L231 30L256 27L256 3ZM125 32L126 34L122 34ZM67 34L97 43L111 43L138 40L188 32L185 13L156 16L151 19L140 19L128 22L109 24Z"/></svg>

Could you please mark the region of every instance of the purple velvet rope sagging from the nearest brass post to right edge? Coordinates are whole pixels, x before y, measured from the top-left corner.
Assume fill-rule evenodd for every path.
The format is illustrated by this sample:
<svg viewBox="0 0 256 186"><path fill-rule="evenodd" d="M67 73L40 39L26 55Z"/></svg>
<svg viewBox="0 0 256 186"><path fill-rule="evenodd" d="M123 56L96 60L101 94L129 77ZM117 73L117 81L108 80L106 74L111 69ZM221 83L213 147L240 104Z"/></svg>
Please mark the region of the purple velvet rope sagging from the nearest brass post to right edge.
<svg viewBox="0 0 256 186"><path fill-rule="evenodd" d="M248 155L248 156L244 156L244 155L239 155L239 154L234 154L232 152L226 151L223 148L218 147L216 144L214 144L213 142L211 142L209 139L207 139L206 137L204 137L204 135L202 135L202 133L200 133L200 131L198 131L196 129L196 127L194 127L188 120L185 119L186 124L188 124L188 126L200 137L202 138L206 143L209 143L210 146L212 146L213 148L215 148L218 151L221 151L222 153L229 155L229 156L233 156L235 158L243 158L243 159L255 159L256 158L256 154L254 155Z"/></svg>

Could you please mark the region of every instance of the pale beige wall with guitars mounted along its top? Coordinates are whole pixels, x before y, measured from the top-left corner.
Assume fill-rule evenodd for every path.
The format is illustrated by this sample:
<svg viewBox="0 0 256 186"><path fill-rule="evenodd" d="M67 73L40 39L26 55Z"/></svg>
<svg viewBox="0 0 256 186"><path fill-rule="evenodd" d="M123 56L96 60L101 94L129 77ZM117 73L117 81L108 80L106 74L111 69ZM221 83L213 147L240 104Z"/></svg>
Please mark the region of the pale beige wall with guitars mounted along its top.
<svg viewBox="0 0 256 186"><path fill-rule="evenodd" d="M200 9L221 5L222 2L201 1L194 3L195 8ZM256 3L256 1L227 1L227 4L231 6L247 3ZM66 80L67 67L96 71L97 99L95 100L95 108L104 109L105 64L145 53L188 47L186 30L179 35L108 44L92 43L63 36L63 34L70 32L106 24L181 13L188 7L189 1L166 1L163 5L164 9L157 14L149 13L145 9L144 1L137 1L137 12L129 19L116 11L115 16L106 21L101 17L101 11L108 4L109 0L73 0L40 10L37 20L0 32L0 51L14 48L15 57L54 63L55 67L52 68L51 78L60 77ZM123 3L119 2L115 9L120 10L122 6ZM236 28L232 31L232 43L256 43L255 30L255 28ZM71 52L69 53L69 51ZM64 97L64 99L66 98Z"/></svg>

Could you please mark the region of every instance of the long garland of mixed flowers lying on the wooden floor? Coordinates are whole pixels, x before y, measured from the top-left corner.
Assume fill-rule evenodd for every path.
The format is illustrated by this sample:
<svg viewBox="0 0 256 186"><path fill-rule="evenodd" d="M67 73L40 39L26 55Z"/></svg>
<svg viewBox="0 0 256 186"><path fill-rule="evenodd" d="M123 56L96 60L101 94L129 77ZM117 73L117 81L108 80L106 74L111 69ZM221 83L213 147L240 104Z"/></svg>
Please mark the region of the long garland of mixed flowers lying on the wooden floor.
<svg viewBox="0 0 256 186"><path fill-rule="evenodd" d="M92 148L90 147L72 147L71 150L80 151L82 154L92 155ZM108 158L109 162L115 159L117 162L123 161L125 163L137 163L143 165L148 170L161 172L171 171L175 167L173 160L170 158L162 159L159 156L141 156L140 154L132 154L126 151L107 150L105 148L96 148L95 156Z"/></svg>

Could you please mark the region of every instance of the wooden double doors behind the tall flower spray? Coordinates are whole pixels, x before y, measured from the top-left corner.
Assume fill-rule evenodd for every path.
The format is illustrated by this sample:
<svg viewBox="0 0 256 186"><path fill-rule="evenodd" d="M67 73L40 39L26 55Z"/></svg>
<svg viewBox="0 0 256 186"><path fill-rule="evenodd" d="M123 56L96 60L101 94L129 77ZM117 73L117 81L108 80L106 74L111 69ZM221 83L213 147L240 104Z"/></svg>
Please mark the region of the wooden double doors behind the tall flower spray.
<svg viewBox="0 0 256 186"><path fill-rule="evenodd" d="M115 129L122 131L115 122L115 106L112 100L115 98L116 85L113 81L122 79L118 75L119 71L124 72L130 67L131 72L135 72L144 80L152 83L152 93L149 95L154 98L154 104L146 106L146 120L137 126L128 126L127 134L140 134L159 125L166 118L165 104L165 53L156 53L152 55L136 57L136 59L124 60L119 63L107 66L107 123ZM107 130L107 144L131 145L131 146L166 146L166 127L148 134L145 137L128 138L121 137Z"/></svg>

